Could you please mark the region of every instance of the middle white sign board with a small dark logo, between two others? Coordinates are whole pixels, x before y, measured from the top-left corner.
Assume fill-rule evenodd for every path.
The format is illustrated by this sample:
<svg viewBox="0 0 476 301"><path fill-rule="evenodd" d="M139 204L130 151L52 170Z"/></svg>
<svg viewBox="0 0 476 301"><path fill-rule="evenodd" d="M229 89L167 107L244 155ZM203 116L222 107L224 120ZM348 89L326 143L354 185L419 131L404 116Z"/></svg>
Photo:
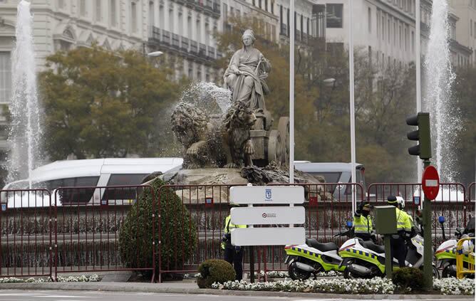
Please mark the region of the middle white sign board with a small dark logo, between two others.
<svg viewBox="0 0 476 301"><path fill-rule="evenodd" d="M277 225L305 221L304 207L242 207L232 208L230 212L235 225Z"/></svg>

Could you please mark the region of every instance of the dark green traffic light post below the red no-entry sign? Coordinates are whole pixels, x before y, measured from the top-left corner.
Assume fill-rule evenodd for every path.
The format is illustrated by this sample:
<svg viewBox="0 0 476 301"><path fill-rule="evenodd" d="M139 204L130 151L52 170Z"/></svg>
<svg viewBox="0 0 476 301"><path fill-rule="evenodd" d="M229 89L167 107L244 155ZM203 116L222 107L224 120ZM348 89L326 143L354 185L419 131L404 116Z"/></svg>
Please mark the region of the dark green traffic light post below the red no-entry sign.
<svg viewBox="0 0 476 301"><path fill-rule="evenodd" d="M423 164L425 168L430 166L430 160L426 159ZM420 179L419 181L421 181ZM425 288L433 288L433 241L431 239L431 201L425 196L423 204L423 278L425 278Z"/></svg>

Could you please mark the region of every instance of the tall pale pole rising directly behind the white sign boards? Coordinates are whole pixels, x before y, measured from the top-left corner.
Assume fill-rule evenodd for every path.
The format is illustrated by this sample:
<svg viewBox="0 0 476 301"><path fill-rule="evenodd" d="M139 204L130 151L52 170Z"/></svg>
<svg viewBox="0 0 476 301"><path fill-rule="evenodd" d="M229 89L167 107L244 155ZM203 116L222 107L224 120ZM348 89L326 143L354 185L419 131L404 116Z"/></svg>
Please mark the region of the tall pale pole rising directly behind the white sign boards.
<svg viewBox="0 0 476 301"><path fill-rule="evenodd" d="M289 0L289 183L294 183L294 0Z"/></svg>

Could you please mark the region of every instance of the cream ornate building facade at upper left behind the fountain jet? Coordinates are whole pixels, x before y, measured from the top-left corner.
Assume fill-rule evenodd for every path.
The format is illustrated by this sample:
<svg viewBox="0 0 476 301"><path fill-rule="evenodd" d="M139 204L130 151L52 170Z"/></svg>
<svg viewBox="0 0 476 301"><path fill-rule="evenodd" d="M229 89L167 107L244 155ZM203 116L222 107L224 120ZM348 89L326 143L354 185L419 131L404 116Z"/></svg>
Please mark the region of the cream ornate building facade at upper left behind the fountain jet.
<svg viewBox="0 0 476 301"><path fill-rule="evenodd" d="M0 0L0 105L11 101L11 53L19 0ZM34 0L37 70L58 50L98 43L110 50L143 50L148 38L146 0ZM4 106L1 106L2 108ZM0 164L6 160L7 123L0 120Z"/></svg>

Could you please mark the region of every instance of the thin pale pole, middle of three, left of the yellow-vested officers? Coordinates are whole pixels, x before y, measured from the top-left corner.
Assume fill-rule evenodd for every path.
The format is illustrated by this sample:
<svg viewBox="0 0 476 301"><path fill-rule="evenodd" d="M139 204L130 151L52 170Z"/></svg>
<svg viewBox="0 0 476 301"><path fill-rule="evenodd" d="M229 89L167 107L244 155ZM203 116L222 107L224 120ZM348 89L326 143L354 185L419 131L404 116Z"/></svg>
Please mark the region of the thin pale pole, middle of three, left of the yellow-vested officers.
<svg viewBox="0 0 476 301"><path fill-rule="evenodd" d="M356 116L353 92L353 31L352 31L352 13L353 1L348 0L348 77L349 77L349 93L351 97L351 164L352 164L352 183L356 183ZM352 212L356 211L356 194L355 187L352 185Z"/></svg>

